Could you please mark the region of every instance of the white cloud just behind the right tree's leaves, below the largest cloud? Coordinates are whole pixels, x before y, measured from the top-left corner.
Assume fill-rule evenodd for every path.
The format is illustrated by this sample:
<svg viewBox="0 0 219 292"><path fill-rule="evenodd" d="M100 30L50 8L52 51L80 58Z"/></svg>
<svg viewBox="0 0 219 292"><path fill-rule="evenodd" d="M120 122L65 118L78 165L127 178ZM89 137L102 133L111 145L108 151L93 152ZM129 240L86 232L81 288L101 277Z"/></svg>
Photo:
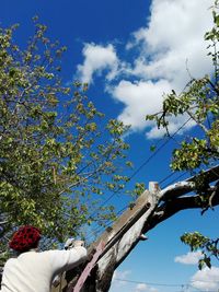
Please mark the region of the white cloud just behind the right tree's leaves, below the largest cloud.
<svg viewBox="0 0 219 292"><path fill-rule="evenodd" d="M136 83L125 80L120 81L112 91L114 98L122 102L125 106L118 119L126 125L131 125L134 131L150 127L150 130L146 133L149 139L163 136L165 133L164 129L158 130L153 121L146 121L146 114L158 113L161 109L163 94L170 91L171 86L166 80L159 80L157 82L139 81ZM175 132L187 119L188 117L186 116L171 118L169 120L170 132ZM181 133L192 126L194 126L194 122L187 122L186 126L182 128Z"/></svg>

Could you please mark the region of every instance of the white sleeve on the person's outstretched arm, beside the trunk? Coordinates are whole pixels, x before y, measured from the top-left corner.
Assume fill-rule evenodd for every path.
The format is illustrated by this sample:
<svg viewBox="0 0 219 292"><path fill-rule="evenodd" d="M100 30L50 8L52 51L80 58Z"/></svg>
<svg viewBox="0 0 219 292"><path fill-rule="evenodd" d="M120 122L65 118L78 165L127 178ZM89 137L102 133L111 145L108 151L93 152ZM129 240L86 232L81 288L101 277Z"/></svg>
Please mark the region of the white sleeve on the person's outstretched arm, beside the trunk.
<svg viewBox="0 0 219 292"><path fill-rule="evenodd" d="M49 250L49 259L54 275L72 269L87 259L87 249L76 246L69 250Z"/></svg>

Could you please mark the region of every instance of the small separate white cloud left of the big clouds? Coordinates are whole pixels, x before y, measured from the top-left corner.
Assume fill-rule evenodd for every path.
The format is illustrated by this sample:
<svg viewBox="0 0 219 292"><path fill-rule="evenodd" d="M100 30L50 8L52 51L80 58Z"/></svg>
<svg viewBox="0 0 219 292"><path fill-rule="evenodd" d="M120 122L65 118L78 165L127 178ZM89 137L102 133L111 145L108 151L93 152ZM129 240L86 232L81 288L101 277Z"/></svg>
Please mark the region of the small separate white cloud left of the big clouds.
<svg viewBox="0 0 219 292"><path fill-rule="evenodd" d="M92 83L93 74L107 70L107 80L112 80L118 68L118 59L113 45L101 46L85 44L83 48L84 62L78 65L77 74L82 82Z"/></svg>

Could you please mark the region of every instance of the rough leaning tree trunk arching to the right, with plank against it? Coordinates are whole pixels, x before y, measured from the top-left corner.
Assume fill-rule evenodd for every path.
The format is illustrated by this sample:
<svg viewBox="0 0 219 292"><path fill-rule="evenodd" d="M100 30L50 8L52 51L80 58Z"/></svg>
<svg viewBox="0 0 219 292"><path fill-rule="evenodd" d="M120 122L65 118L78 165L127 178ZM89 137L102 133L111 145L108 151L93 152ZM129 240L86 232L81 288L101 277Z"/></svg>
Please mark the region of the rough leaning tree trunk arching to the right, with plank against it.
<svg viewBox="0 0 219 292"><path fill-rule="evenodd" d="M219 205L219 166L205 173L205 191L209 196L210 206ZM81 292L107 292L111 287L114 270L129 255L142 234L155 227L160 222L185 209L203 208L200 196L196 194L195 177L176 183L163 190L153 188L146 190L136 201L132 209L127 210L115 224L105 231L92 245L100 241L105 242L105 250L87 279ZM210 183L216 182L212 186ZM154 185L155 186L155 185ZM69 271L62 279L62 288L53 289L53 292L72 292L77 275L81 271Z"/></svg>

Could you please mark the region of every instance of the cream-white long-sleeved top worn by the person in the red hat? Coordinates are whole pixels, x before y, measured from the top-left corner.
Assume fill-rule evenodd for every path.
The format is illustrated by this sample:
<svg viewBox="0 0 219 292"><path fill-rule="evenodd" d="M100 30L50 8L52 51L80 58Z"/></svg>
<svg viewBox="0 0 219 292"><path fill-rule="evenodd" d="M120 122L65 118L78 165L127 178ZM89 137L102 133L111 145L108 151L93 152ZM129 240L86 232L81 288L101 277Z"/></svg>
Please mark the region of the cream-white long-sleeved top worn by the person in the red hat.
<svg viewBox="0 0 219 292"><path fill-rule="evenodd" d="M49 292L54 278L87 258L82 246L69 250L27 252L7 261L1 292Z"/></svg>

